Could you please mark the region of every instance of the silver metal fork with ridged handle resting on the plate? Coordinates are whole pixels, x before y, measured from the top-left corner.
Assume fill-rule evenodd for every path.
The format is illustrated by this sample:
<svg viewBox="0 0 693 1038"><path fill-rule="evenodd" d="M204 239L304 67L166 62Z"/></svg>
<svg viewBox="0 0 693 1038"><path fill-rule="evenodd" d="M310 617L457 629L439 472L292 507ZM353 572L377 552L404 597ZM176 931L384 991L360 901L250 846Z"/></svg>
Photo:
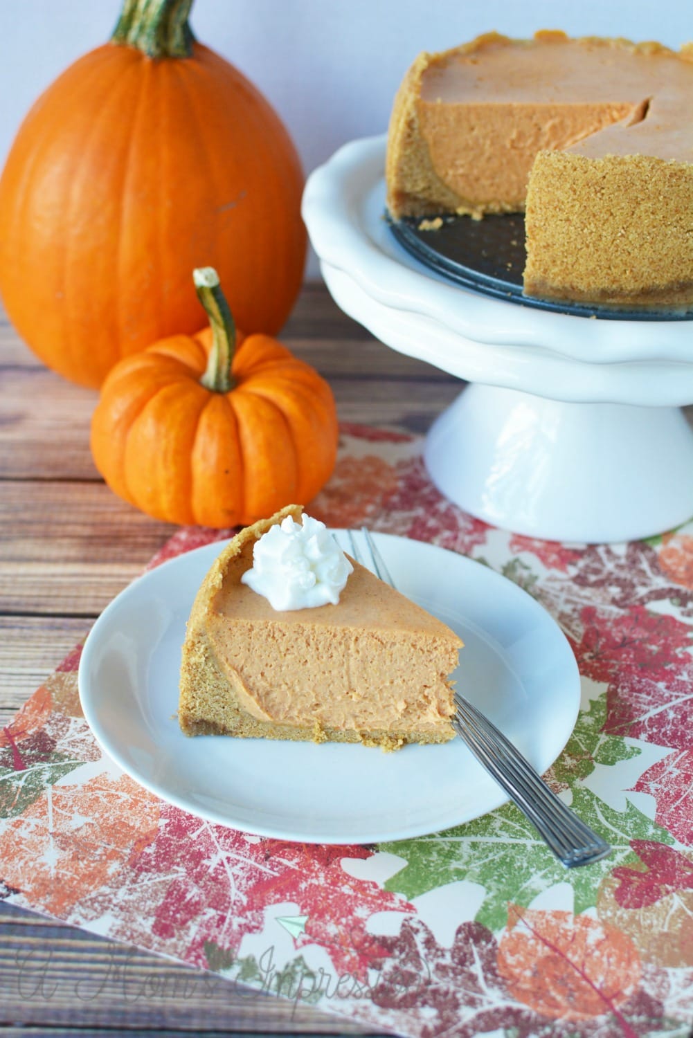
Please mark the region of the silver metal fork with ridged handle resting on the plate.
<svg viewBox="0 0 693 1038"><path fill-rule="evenodd" d="M388 567L370 531L362 526L362 536L371 558L364 561L353 530L349 544L356 562L367 566L377 577L395 586ZM609 844L593 832L547 786L516 746L459 692L454 693L456 712L452 726L476 759L485 767L523 814L537 828L551 850L568 869L598 862L611 852Z"/></svg>

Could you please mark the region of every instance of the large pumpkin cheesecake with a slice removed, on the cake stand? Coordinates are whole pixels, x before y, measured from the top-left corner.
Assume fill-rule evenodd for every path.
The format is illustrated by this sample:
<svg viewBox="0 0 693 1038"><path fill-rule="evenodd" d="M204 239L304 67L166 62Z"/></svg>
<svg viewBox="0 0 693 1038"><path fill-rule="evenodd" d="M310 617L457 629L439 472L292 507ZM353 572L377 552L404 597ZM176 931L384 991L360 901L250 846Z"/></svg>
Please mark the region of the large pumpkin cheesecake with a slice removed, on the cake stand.
<svg viewBox="0 0 693 1038"><path fill-rule="evenodd" d="M526 211L527 295L693 303L693 45L488 33L395 100L392 217Z"/></svg>

